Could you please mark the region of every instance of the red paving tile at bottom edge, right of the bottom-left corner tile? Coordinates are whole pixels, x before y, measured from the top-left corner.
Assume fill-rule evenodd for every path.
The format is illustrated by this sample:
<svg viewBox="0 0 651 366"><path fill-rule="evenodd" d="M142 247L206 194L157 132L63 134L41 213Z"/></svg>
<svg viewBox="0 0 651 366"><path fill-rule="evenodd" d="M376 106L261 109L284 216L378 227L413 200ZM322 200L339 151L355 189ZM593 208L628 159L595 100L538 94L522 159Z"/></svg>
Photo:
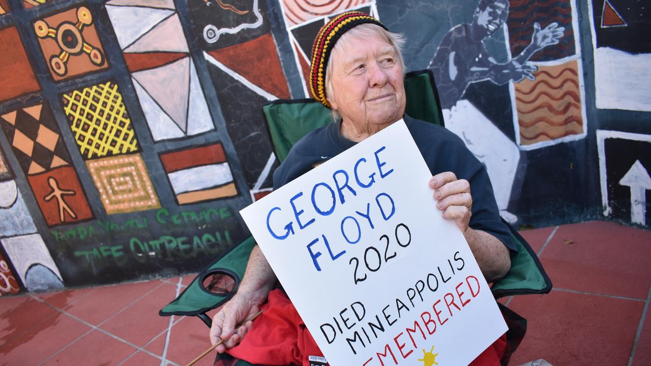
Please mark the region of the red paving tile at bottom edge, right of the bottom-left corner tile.
<svg viewBox="0 0 651 366"><path fill-rule="evenodd" d="M126 343L94 330L48 359L43 365L117 365L135 350L136 348Z"/></svg>

